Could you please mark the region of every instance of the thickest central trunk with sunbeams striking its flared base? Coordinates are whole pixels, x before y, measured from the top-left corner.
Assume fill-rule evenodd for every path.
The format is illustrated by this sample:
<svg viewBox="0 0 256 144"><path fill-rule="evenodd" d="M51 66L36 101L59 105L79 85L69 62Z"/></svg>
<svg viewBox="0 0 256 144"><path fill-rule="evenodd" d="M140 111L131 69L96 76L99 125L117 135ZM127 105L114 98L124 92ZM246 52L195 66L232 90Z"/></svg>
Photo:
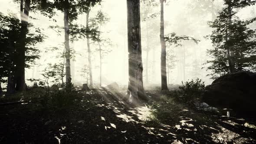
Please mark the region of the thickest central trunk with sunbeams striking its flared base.
<svg viewBox="0 0 256 144"><path fill-rule="evenodd" d="M148 98L144 93L142 79L140 0L127 0L127 22L129 53L127 94L129 101L136 103L138 98Z"/></svg>

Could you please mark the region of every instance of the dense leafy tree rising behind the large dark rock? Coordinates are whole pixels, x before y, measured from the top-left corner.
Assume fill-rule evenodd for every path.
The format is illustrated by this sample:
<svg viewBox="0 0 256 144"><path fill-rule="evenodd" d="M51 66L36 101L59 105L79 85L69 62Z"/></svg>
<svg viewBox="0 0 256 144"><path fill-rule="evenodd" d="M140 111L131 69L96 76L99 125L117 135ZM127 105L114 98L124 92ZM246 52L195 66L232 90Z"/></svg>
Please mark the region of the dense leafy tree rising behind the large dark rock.
<svg viewBox="0 0 256 144"><path fill-rule="evenodd" d="M218 75L250 70L255 66L256 31L249 29L248 25L256 19L240 20L235 15L235 10L254 4L254 0L225 0L226 7L216 20L209 23L214 30L207 37L211 39L214 49L207 50L213 58L207 61L212 64L207 69L213 71L210 74L213 79Z"/></svg>

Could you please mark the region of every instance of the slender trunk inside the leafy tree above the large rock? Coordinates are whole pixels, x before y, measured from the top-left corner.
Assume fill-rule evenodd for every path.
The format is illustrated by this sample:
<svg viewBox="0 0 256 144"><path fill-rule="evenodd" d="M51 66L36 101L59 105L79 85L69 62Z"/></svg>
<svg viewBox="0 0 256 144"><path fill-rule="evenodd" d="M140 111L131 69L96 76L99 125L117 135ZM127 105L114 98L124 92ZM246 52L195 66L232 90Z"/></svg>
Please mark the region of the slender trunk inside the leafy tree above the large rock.
<svg viewBox="0 0 256 144"><path fill-rule="evenodd" d="M232 23L232 15L231 15L231 7L228 6L228 26ZM232 36L231 29L228 29L228 36L227 38L230 39ZM229 58L229 67L230 67L230 73L235 72L235 62L234 62L234 51L232 50L232 46L229 46L227 49L227 55Z"/></svg>

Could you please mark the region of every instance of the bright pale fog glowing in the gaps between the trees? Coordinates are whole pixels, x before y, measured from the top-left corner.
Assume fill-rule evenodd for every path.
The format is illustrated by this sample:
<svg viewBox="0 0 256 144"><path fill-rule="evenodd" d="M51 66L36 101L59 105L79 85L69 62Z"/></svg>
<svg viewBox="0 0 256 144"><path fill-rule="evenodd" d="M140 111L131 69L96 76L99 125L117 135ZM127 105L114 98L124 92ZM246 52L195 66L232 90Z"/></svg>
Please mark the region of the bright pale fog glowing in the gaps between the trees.
<svg viewBox="0 0 256 144"><path fill-rule="evenodd" d="M165 34L177 33L178 35L186 35L200 40L198 44L193 42L182 42L183 46L173 47L167 45L167 50L172 49L175 56L174 68L169 73L169 84L180 84L181 81L188 79L196 79L197 77L210 84L213 80L210 79L209 71L203 65L210 57L207 56L206 50L212 49L210 40L204 36L210 35L212 29L207 22L214 20L218 12L223 7L222 0L214 1L214 7L206 6L205 0L170 0L164 7ZM0 10L7 15L9 12L16 13L19 17L19 4L12 0L0 0ZM151 14L159 13L160 7L151 8L152 11L148 16L143 15L145 5L141 3L141 41L142 41L142 60L143 60L143 75L145 76L148 69L148 82L144 79L144 84L160 84L161 83L161 45L160 45L160 16L150 18ZM212 9L212 11L209 11ZM127 48L127 8L126 0L105 0L101 5L92 7L90 17L94 17L98 10L102 10L110 18L110 21L102 27L104 38L109 38L112 41L112 46L106 46L102 49L111 49L103 58L102 65L102 85L107 85L111 82L120 84L128 84L128 48ZM237 15L241 19L251 19L253 16L249 13L256 10L255 6L246 7L240 10ZM53 20L42 16L39 13L30 13L30 16L36 20L29 19L35 27L43 29L43 33L47 36L43 43L38 43L37 47L41 51L40 59L36 60L36 65L30 69L26 69L26 79L43 79L41 75L43 69L47 67L47 63L62 62L62 59L57 59L58 52L64 49L64 33L63 29L59 28L60 33L56 29L51 29L49 26L64 26L63 13L56 11L57 16ZM86 15L80 15L76 23L85 25ZM148 41L148 67L146 67L146 48L147 48L147 28L146 21L148 19L149 41ZM255 26L255 23L252 24ZM52 47L58 47L60 50L50 51ZM71 49L75 50L75 59L71 61L72 82L85 83L86 79L81 76L81 69L88 64L87 60L87 45L86 39L78 40L70 43ZM99 54L96 49L97 45L91 45L92 49L92 73L94 83L99 82ZM29 82L28 82L29 83ZM29 83L30 84L30 83Z"/></svg>

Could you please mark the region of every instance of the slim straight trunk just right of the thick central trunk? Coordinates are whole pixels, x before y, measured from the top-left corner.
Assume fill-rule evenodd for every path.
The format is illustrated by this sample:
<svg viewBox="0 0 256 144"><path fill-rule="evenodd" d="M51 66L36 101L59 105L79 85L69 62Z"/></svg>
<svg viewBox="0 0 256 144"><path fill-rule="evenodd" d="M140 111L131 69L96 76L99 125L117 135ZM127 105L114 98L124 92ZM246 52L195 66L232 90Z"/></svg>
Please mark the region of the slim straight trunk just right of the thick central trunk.
<svg viewBox="0 0 256 144"><path fill-rule="evenodd" d="M168 90L166 76L166 44L164 41L164 0L161 3L160 42L161 42L161 89Z"/></svg>

